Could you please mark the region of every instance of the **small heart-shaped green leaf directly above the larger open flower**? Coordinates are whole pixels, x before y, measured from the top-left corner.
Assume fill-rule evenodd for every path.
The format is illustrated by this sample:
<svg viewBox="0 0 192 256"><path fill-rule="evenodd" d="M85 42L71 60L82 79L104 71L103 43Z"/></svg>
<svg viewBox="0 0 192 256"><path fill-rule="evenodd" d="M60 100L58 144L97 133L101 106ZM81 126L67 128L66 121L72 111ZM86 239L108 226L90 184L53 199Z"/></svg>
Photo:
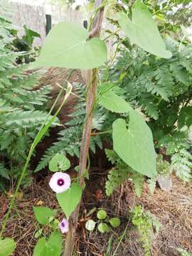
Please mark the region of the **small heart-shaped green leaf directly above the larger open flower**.
<svg viewBox="0 0 192 256"><path fill-rule="evenodd" d="M70 168L70 161L63 154L55 154L50 160L48 168L50 171L66 171Z"/></svg>

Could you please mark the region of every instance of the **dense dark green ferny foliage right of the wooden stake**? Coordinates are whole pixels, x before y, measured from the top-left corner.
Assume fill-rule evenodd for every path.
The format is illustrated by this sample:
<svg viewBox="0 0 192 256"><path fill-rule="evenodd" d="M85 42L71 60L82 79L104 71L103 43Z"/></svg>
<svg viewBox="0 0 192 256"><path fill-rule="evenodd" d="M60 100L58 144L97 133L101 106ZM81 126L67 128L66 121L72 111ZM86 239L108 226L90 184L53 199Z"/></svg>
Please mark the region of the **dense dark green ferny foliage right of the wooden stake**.
<svg viewBox="0 0 192 256"><path fill-rule="evenodd" d="M102 82L108 82L135 109L144 112L157 149L165 148L176 175L191 178L188 128L192 124L192 54L189 43L166 42L170 59L135 47L119 49L112 67L103 68ZM117 115L117 114L116 114ZM115 114L107 114L106 129Z"/></svg>

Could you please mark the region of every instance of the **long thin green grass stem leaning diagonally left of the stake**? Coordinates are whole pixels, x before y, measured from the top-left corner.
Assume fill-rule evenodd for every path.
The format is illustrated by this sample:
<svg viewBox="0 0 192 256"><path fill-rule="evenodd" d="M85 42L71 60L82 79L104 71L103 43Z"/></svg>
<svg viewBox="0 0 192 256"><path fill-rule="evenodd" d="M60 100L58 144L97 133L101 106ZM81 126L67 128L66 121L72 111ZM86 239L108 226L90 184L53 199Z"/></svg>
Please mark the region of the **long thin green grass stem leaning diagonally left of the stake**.
<svg viewBox="0 0 192 256"><path fill-rule="evenodd" d="M70 79L70 76L72 75L74 70L71 70L69 75L68 75L68 80ZM65 82L65 85L68 83L68 80ZM9 218L9 215L11 213L11 209L12 207L14 206L14 202L15 202L15 199L16 199L16 194L18 193L18 190L21 186L21 182L23 181L23 177L24 175L26 174L26 171L27 171L27 168L28 168L28 164L29 164L29 161L31 160L31 156L33 155L33 151L34 149L36 148L36 146L38 145L38 142L41 141L41 138L43 137L44 134L46 134L48 128L50 127L50 125L54 122L55 118L57 117L58 113L60 112L61 108L63 107L64 103L66 102L68 96L70 95L70 92L66 92L65 94L65 97L64 97L64 100L63 102L61 103L60 107L58 108L58 110L55 112L55 114L53 115L53 117L51 117L51 119L48 121L49 117L50 117L50 114L52 113L56 103L58 102L59 98L60 98L60 95L63 93L64 91L64 87L62 87L62 89L60 90L59 94L58 94L58 97L56 98L55 102L53 103L50 111L48 112L48 116L46 118L46 120L43 122L43 124L41 125L41 128L38 132L38 134L36 135L36 138L34 139L33 143L31 144L31 148L28 152L28 156L27 156L27 159L26 159L26 163L23 167L23 171L21 173L21 176L20 178L18 179L18 183L17 183L17 186L16 186L16 190L14 191L14 196L11 198L11 203L9 205L9 209L5 215L5 218L3 220L3 223L2 223L2 226L1 226L1 232L0 232L0 238L1 236L3 235L4 233L4 230L6 228L6 223L7 223L7 220ZM70 89L71 91L71 89Z"/></svg>

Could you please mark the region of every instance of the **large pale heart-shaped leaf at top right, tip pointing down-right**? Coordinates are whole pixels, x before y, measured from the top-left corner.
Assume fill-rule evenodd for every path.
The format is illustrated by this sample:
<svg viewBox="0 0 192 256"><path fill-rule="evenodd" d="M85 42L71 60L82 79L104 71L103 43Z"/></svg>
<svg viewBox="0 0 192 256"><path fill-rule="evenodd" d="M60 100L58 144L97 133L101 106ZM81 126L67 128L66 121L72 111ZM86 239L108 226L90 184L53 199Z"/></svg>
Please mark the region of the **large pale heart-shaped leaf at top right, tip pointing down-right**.
<svg viewBox="0 0 192 256"><path fill-rule="evenodd" d="M172 53L166 50L154 18L142 1L137 0L133 5L132 21L123 12L118 14L118 21L132 43L156 56L171 58Z"/></svg>

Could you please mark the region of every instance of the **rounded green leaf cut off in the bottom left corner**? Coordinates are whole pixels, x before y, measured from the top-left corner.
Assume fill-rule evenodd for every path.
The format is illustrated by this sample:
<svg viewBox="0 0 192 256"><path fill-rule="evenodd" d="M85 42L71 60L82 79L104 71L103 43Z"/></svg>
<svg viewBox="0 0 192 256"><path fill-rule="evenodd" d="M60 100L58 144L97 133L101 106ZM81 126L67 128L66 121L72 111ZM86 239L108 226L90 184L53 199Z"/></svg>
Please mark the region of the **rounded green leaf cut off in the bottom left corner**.
<svg viewBox="0 0 192 256"><path fill-rule="evenodd" d="M9 256L16 249L16 242L14 239L5 238L0 239L0 255Z"/></svg>

